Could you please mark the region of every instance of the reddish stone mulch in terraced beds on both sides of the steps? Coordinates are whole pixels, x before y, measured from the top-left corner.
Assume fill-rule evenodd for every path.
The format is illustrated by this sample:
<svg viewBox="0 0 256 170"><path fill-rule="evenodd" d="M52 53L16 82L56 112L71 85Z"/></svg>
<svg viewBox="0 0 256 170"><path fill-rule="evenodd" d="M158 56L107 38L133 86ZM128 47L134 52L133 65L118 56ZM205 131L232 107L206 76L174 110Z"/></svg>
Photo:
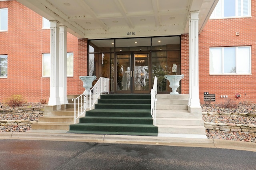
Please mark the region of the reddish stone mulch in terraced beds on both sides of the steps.
<svg viewBox="0 0 256 170"><path fill-rule="evenodd" d="M13 112L19 110L19 107L11 108L5 105L0 108L1 110L11 110ZM24 108L43 108L44 104L41 103L24 103ZM234 124L256 124L256 105L238 105L236 109L224 109L218 105L209 105L206 107L202 105L202 119L205 122L212 123L234 123ZM38 117L42 114L0 114L0 122L2 121L14 121L9 123L0 124L0 132L26 132L31 129L30 123L23 125L20 121L37 121ZM31 122L32 123L32 122ZM248 132L225 132L215 131L208 132L206 130L206 136L210 139L226 139L226 140L238 140L246 142L256 142L256 136Z"/></svg>

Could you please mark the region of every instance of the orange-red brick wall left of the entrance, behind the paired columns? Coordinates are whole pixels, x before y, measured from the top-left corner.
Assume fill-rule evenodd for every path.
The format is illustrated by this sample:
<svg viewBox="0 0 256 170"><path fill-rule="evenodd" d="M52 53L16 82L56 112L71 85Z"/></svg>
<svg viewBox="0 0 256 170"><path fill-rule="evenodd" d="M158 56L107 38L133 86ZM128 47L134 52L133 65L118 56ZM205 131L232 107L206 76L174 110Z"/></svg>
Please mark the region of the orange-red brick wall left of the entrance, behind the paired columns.
<svg viewBox="0 0 256 170"><path fill-rule="evenodd" d="M42 16L12 1L0 2L8 8L8 31L0 32L0 55L8 55L8 78L0 78L0 102L12 94L23 95L28 102L49 99L50 78L42 78L42 53L50 53L50 29L42 30ZM78 63L78 39L67 35L67 52ZM83 63L84 63L83 62ZM78 71L67 79L68 95L77 95Z"/></svg>

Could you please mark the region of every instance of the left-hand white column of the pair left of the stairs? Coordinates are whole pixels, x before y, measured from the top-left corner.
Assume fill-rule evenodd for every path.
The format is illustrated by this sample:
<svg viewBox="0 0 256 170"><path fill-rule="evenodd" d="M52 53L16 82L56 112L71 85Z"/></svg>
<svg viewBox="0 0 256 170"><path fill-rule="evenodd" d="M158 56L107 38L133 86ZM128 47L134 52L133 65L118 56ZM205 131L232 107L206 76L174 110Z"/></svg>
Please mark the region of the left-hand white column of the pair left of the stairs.
<svg viewBox="0 0 256 170"><path fill-rule="evenodd" d="M50 21L51 42L50 42L50 98L48 105L60 105L59 97L59 43L60 43L60 23Z"/></svg>

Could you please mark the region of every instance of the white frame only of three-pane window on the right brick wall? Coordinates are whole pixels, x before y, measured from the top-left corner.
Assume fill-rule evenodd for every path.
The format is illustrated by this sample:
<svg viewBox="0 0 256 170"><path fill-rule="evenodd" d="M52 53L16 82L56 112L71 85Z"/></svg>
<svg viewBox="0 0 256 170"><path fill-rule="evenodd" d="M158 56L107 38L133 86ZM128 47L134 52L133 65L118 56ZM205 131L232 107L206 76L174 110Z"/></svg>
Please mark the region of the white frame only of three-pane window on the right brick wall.
<svg viewBox="0 0 256 170"><path fill-rule="evenodd" d="M238 73L238 48L239 47L248 47L249 48L249 72L248 73ZM211 49L214 48L218 48L221 49L221 73L211 73ZM230 48L230 47L210 47L209 49L209 73L210 75L252 75L252 47L251 46L236 46L236 47L232 47L232 48L236 48L235 49L235 62L236 62L236 72L235 73L224 73L224 48Z"/></svg>

